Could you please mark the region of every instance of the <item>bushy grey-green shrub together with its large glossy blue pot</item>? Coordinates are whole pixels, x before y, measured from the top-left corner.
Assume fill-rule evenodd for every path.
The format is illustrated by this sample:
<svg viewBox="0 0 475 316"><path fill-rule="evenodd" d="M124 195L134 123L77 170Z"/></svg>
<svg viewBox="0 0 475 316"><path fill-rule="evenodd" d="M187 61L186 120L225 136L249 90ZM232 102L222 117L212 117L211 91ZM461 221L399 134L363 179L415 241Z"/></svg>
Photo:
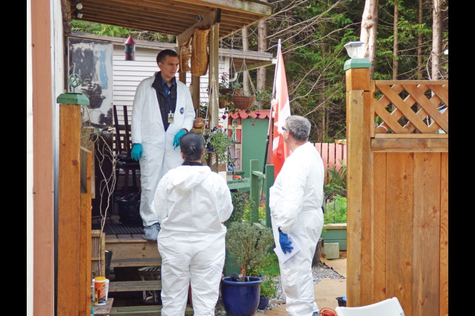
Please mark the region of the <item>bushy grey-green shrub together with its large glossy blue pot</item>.
<svg viewBox="0 0 475 316"><path fill-rule="evenodd" d="M226 249L242 270L239 280L232 280L230 276L221 280L221 294L228 316L252 316L257 311L262 277L247 276L247 270L262 264L273 242L270 228L259 229L247 221L231 224L226 234Z"/></svg>

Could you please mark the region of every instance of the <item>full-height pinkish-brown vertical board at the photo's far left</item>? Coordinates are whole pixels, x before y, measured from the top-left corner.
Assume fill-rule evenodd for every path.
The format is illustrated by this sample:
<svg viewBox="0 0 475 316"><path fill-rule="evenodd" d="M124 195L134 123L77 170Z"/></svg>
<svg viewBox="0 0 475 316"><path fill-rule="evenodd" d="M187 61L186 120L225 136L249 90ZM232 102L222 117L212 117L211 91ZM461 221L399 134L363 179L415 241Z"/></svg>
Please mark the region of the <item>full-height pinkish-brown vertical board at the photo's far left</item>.
<svg viewBox="0 0 475 316"><path fill-rule="evenodd" d="M33 313L54 315L53 104L51 95L51 4L31 4L33 102ZM28 18L28 17L27 17ZM27 26L28 27L28 26ZM28 72L28 70L27 70ZM28 99L29 96L27 96ZM27 261L29 261L27 259ZM28 264L28 263L27 263ZM30 276L27 276L29 278Z"/></svg>

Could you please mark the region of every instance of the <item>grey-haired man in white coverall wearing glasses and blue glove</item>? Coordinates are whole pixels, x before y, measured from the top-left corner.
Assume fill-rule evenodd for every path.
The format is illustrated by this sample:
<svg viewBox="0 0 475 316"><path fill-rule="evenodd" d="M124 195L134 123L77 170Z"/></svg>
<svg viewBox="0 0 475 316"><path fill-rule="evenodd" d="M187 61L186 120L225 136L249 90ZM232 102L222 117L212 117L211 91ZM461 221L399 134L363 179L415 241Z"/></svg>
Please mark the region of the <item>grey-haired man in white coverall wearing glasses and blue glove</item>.
<svg viewBox="0 0 475 316"><path fill-rule="evenodd" d="M308 119L289 116L282 130L292 153L270 189L272 230L276 246L284 253L292 252L295 243L301 250L286 263L279 261L286 309L290 316L318 316L312 259L323 228L324 167L315 146L308 142Z"/></svg>

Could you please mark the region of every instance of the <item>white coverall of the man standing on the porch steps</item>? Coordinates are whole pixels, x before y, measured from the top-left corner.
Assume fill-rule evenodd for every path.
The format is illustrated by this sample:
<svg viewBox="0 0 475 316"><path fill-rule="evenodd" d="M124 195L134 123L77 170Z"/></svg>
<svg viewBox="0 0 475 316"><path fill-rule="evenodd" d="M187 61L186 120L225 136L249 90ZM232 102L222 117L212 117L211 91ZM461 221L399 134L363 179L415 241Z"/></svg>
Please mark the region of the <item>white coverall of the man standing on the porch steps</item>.
<svg viewBox="0 0 475 316"><path fill-rule="evenodd" d="M158 223L151 210L153 195L162 176L183 163L180 149L173 148L173 138L182 128L190 131L195 117L190 90L177 80L174 121L165 131L156 90L152 87L156 75L143 79L139 84L132 110L132 143L142 144L143 149L142 158L139 159L142 189L140 216L143 226Z"/></svg>

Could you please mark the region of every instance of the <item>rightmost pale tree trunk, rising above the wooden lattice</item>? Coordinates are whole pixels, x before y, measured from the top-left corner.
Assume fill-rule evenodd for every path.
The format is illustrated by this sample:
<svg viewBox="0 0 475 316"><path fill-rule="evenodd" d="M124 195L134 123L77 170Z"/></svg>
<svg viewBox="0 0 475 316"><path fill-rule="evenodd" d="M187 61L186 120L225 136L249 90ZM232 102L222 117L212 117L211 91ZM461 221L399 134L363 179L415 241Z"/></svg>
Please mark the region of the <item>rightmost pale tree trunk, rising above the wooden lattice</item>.
<svg viewBox="0 0 475 316"><path fill-rule="evenodd" d="M432 70L431 80L440 80L440 55L442 54L443 0L433 0L432 8Z"/></svg>

